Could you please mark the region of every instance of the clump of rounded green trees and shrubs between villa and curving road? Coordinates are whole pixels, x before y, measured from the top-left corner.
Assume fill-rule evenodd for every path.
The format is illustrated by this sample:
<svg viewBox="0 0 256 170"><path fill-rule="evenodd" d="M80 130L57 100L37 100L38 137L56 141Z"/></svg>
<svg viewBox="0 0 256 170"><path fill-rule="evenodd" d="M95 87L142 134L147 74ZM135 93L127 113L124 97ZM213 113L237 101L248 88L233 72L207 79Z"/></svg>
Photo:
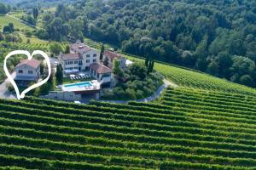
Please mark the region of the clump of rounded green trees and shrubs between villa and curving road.
<svg viewBox="0 0 256 170"><path fill-rule="evenodd" d="M143 99L154 94L163 79L158 72L148 73L145 65L140 62L123 70L117 59L113 61L113 74L118 83L112 91L107 90L102 99Z"/></svg>

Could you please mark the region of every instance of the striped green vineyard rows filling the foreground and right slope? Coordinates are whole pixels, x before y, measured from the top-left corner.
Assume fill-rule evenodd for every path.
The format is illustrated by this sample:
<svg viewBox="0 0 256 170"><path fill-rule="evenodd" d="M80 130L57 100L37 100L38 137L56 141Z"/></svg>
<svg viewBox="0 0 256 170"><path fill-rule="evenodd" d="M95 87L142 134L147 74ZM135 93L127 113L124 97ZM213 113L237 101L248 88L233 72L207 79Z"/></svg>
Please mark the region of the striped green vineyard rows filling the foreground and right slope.
<svg viewBox="0 0 256 170"><path fill-rule="evenodd" d="M174 66L158 103L0 100L0 165L41 169L253 169L252 88ZM213 89L213 90L212 90ZM218 90L219 89L219 90ZM218 90L218 91L217 91Z"/></svg>

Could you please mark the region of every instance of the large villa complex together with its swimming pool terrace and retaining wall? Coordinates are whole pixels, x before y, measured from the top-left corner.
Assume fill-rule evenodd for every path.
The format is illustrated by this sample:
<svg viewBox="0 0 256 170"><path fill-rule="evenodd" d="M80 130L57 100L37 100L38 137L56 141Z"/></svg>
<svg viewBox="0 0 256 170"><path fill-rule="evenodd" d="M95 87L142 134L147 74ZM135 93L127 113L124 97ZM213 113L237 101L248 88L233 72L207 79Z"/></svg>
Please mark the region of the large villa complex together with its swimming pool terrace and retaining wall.
<svg viewBox="0 0 256 170"><path fill-rule="evenodd" d="M103 65L105 59L108 65ZM76 82L59 85L60 91L50 92L42 97L68 101L80 101L88 97L99 99L101 89L114 84L114 59L119 59L120 67L125 68L126 59L113 50L105 50L100 60L100 53L95 48L90 48L82 42L71 44L70 53L60 54L58 63L63 68L63 77L69 77ZM84 77L91 80L84 82Z"/></svg>

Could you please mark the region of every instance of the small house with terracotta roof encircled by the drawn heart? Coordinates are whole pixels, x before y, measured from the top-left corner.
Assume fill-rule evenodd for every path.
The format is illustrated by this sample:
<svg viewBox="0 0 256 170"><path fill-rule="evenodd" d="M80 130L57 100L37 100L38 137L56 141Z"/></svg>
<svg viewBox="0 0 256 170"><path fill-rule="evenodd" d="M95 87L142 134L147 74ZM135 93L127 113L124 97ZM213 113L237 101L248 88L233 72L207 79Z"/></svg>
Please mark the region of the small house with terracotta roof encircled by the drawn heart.
<svg viewBox="0 0 256 170"><path fill-rule="evenodd" d="M37 59L22 59L15 66L15 81L26 86L30 82L38 82L40 78L40 61Z"/></svg>

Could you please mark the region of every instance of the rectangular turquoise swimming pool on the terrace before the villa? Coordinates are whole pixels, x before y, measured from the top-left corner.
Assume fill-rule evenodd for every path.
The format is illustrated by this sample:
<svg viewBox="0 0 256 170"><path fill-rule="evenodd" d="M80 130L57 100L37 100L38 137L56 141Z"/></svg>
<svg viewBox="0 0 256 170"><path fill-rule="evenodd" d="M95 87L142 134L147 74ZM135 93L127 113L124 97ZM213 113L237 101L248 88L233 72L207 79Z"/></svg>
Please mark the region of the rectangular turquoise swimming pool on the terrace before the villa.
<svg viewBox="0 0 256 170"><path fill-rule="evenodd" d="M79 90L90 90L90 88L94 88L95 82L77 82L72 84L64 84L62 85L62 91L79 91Z"/></svg>

